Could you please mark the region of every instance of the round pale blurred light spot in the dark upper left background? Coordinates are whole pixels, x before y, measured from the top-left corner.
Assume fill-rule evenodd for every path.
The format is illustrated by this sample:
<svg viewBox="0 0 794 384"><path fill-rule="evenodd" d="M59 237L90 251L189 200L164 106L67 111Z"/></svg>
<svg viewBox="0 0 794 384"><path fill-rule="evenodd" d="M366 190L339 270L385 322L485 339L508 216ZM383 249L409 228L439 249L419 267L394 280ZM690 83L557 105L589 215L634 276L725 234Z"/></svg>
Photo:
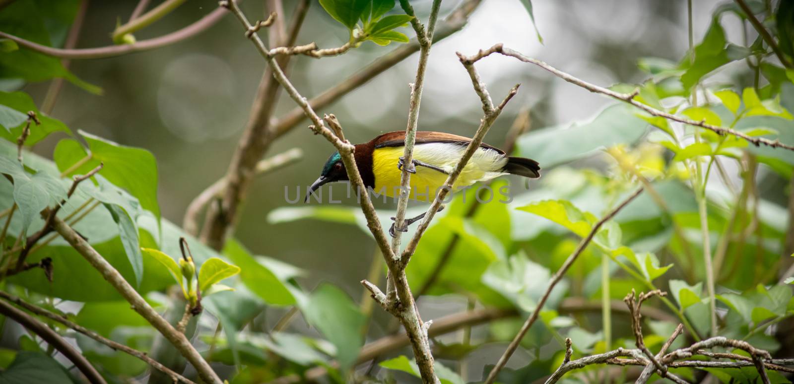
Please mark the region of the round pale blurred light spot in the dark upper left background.
<svg viewBox="0 0 794 384"><path fill-rule="evenodd" d="M165 67L157 90L157 110L166 128L191 142L234 136L243 129L237 81L232 68L216 56L191 53Z"/></svg>

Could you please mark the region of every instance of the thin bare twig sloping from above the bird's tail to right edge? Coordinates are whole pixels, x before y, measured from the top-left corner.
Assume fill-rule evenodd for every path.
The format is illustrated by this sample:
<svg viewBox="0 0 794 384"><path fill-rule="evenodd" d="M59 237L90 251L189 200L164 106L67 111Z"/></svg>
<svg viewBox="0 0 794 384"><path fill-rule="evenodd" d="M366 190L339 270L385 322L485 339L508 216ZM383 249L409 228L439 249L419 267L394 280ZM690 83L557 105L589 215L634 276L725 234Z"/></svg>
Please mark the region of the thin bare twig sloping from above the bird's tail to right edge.
<svg viewBox="0 0 794 384"><path fill-rule="evenodd" d="M545 62L543 62L541 60L537 60L537 59L533 59L531 57L524 56L520 52L516 52L516 51L514 51L514 50L512 50L510 48L503 47L503 44L495 44L491 48L488 48L486 50L480 50L480 52L476 56L472 56L472 60L474 60L474 61L480 60L480 59L482 59L482 58L484 58L484 57L486 57L488 55L491 55L492 53L499 53L499 54L502 54L504 56L512 56L512 57L515 57L518 60L521 60L524 63L535 64L538 67L542 67L546 71L549 71L549 72L553 73L553 75L559 77L560 79L565 80L568 83L572 83L572 84L575 84L577 86L581 86L582 88L584 88L586 90L589 90L589 91L591 91L593 93L596 93L596 94L604 94L604 95L607 95L607 96L609 96L611 98L615 98L616 100L619 100L621 102L627 102L627 103L631 104L632 106L635 106L635 107L637 107L639 109L642 109L642 110L646 111L647 113L650 113L653 116L664 117L665 119L672 120L672 121L678 121L678 122L686 124L686 125L696 125L698 127L701 127L701 128L704 128L704 129L708 129L708 130L710 130L712 132L715 132L716 134L718 134L720 136L733 135L733 136L741 137L742 139L747 140L748 142L750 142L751 144L755 145L756 147L761 146L761 145L766 145L766 146L769 146L769 147L772 147L772 148L785 148L785 149L788 149L790 151L794 151L794 145L792 145L792 144L783 144L783 143L780 142L780 140L777 140L777 139L776 140L769 140L769 139L766 139L764 137L748 136L745 133L739 132L739 131L737 131L735 129L730 129L730 128L725 128L725 127L719 127L717 125L707 124L706 121L690 120L690 119L688 119L686 117L676 116L676 115L673 115L672 113L667 113L665 111L653 108L652 106L646 106L645 104L642 104L642 102L638 102L637 100L634 99L634 96L637 96L637 94L638 94L638 90L635 90L634 92L632 92L630 94L622 94L620 92L615 92L614 90L610 90L610 89L604 88L603 86L597 86L595 84L588 83L588 82L586 82L586 81L584 81L582 79L578 79L578 78L574 77L573 75L570 75L570 74L568 74L566 72L560 71L557 68L552 67L549 64L547 64L547 63L545 63Z"/></svg>

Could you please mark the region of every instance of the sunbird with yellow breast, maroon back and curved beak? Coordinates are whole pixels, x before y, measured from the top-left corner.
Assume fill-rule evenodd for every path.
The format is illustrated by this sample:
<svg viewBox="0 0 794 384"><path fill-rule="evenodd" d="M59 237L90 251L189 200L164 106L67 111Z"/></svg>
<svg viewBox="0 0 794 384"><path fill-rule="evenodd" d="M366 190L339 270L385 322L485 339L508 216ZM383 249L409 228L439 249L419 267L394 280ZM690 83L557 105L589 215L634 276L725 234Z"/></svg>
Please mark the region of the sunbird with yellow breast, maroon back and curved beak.
<svg viewBox="0 0 794 384"><path fill-rule="evenodd" d="M418 131L411 164L407 167L410 176L410 198L432 201L461 160L466 146L472 139L445 132ZM387 132L364 144L356 144L353 156L364 186L372 188L376 194L386 194L392 198L400 194L400 178L405 149L405 131ZM540 177L538 162L524 157L507 156L504 151L488 144L480 144L472 159L468 160L461 171L453 192L471 186L476 182L486 182L501 175L520 175L530 179ZM339 152L334 152L322 167L320 177L306 191L306 202L315 190L329 182L348 181L345 163ZM407 231L407 225L422 219L425 213L406 219L406 228L391 225L389 233L395 236L395 229ZM392 217L394 220L394 217Z"/></svg>

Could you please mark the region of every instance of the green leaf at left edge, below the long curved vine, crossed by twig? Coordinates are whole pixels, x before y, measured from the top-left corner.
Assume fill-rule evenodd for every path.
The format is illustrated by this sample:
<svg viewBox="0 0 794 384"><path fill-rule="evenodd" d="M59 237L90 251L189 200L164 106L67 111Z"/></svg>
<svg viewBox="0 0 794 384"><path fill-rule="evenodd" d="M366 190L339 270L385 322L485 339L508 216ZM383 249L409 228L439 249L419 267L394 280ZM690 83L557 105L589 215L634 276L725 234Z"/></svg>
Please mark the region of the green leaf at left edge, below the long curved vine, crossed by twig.
<svg viewBox="0 0 794 384"><path fill-rule="evenodd" d="M0 65L0 67L2 67L2 65ZM0 137L11 141L13 144L17 143L17 138L21 135L22 129L25 128L24 123L28 118L29 111L33 111L37 114L41 124L36 125L35 123L31 123L30 136L28 136L28 138L25 140L26 146L37 144L41 139L44 139L44 137L47 137L52 132L65 132L67 135L71 136L71 131L66 125L64 125L64 123L53 119L52 117L48 117L47 115L44 115L44 113L41 113L36 107L36 104L33 103L33 99L30 98L30 96L25 92L0 91L0 106L2 106L2 109L6 110L6 113L13 113L11 111L15 111L16 113L25 115L25 118L22 121L18 121L16 118L10 118L6 120L6 122L0 121L0 125L5 128L0 129ZM19 115L16 116L17 118L19 117ZM14 123L17 124L14 125Z"/></svg>

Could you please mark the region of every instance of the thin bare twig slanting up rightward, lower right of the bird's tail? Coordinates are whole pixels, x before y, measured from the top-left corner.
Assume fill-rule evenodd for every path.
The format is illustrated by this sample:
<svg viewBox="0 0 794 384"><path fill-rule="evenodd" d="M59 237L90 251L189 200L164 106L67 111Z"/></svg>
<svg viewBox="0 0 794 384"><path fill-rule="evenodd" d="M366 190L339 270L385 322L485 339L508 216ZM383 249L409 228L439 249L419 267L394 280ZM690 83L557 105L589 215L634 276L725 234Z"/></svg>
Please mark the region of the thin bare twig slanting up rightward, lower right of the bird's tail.
<svg viewBox="0 0 794 384"><path fill-rule="evenodd" d="M570 256L568 256L568 259L566 259L565 263L562 264L562 267L560 267L560 269L557 270L557 273L555 273L552 276L551 281L549 281L549 286L546 288L540 301L538 301L538 305L535 306L535 309L534 311L532 311L530 317L526 319L526 321L521 327L521 330L518 331L518 334L513 338L513 341L511 341L510 345L507 347L507 350L504 351L502 357L499 358L499 362L497 362L496 365L493 367L493 369L491 369L491 373L488 374L488 378L485 380L486 384L491 384L496 380L496 376L499 374L499 371L501 371L502 368L505 366L505 364L507 364L507 360L510 359L510 356L513 355L513 352L515 352L516 348L518 348L518 344L524 338L526 332L529 331L532 324L534 324L534 322L538 320L538 315L540 314L541 309L543 309L543 305L545 305L545 302L549 300L549 295L551 294L551 291L554 289L554 286L557 286L557 283L560 282L562 276L565 275L565 272L567 272L569 268L573 265L573 263L576 262L576 259L584 251L584 248L587 248L588 244L590 244L590 242L593 240L593 237L595 236L595 233L598 232L599 228L601 228L601 226L604 223L611 220L612 217L615 217L615 215L620 211L620 209L623 209L626 205L628 205L632 200L634 200L634 198L639 196L639 194L641 193L642 193L642 188L638 189L633 194L630 194L629 197L623 200L618 206L615 207L615 209L612 209L609 213L607 213L604 217L602 217L601 220L595 223L595 225L593 225L593 228L590 230L590 233L588 233L588 236L584 237L584 239L580 241L579 245L576 246L576 249L573 251L573 253Z"/></svg>

